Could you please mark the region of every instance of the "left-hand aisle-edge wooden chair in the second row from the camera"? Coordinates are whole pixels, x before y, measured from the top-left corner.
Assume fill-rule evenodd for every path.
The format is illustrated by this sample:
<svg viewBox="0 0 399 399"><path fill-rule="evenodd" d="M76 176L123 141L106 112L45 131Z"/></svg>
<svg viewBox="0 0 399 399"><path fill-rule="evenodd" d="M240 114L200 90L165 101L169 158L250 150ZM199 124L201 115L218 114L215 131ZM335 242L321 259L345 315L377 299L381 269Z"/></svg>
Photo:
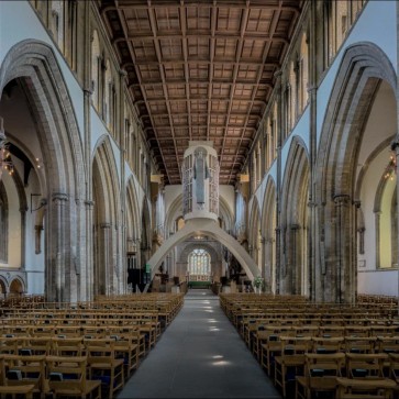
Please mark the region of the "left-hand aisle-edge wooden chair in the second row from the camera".
<svg viewBox="0 0 399 399"><path fill-rule="evenodd" d="M124 361L115 358L114 343L109 339L84 340L89 376L108 387L108 398L124 385Z"/></svg>

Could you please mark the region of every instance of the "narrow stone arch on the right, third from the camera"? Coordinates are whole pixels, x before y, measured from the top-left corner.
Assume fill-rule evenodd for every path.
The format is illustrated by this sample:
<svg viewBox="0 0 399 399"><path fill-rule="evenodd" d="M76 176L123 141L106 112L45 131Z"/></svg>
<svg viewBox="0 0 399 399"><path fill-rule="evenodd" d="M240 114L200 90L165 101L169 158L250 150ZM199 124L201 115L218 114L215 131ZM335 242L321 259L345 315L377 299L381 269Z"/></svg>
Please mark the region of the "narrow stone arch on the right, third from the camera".
<svg viewBox="0 0 399 399"><path fill-rule="evenodd" d="M276 181L268 176L262 210L262 235L264 245L264 270L266 292L276 293Z"/></svg>

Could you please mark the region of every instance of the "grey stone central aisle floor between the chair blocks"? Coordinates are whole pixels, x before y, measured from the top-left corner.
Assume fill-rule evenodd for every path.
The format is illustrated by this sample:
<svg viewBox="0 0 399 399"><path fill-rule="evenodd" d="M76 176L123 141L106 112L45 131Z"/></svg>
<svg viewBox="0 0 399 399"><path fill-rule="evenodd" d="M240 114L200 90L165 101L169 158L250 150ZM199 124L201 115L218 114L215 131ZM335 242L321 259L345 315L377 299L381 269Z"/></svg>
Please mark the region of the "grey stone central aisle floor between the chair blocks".
<svg viewBox="0 0 399 399"><path fill-rule="evenodd" d="M191 289L179 314L118 396L281 398L209 290Z"/></svg>

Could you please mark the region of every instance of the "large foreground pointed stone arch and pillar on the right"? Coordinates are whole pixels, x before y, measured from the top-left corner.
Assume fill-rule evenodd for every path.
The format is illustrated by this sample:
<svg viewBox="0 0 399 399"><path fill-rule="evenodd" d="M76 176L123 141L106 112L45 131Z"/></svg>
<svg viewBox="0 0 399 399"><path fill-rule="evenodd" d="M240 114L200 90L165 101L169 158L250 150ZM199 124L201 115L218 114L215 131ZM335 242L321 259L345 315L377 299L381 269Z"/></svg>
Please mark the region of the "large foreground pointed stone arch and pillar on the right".
<svg viewBox="0 0 399 399"><path fill-rule="evenodd" d="M354 302L356 275L355 173L369 108L381 81L396 92L395 69L372 43L346 48L330 96L317 157L320 251L315 299Z"/></svg>

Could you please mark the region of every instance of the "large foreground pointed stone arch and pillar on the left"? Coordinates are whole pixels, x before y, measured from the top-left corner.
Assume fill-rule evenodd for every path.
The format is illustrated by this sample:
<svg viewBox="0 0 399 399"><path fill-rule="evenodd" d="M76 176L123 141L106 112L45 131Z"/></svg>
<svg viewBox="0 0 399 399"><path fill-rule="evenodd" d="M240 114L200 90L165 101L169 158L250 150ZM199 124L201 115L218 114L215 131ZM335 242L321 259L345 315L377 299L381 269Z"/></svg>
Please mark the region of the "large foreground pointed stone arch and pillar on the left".
<svg viewBox="0 0 399 399"><path fill-rule="evenodd" d="M44 163L46 300L77 300L86 281L85 273L77 273L84 259L76 254L84 242L85 164L74 106L57 58L43 42L25 40L8 52L0 68L1 96L13 79L24 86Z"/></svg>

